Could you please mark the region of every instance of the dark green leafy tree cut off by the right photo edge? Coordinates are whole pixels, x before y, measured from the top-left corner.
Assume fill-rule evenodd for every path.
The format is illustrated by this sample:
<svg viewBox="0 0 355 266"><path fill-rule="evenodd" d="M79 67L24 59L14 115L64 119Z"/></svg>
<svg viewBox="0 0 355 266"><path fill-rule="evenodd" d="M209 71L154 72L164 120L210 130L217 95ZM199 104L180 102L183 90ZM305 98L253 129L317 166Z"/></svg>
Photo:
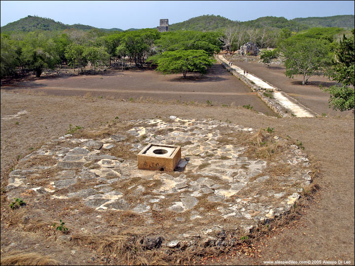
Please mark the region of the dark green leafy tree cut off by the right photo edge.
<svg viewBox="0 0 355 266"><path fill-rule="evenodd" d="M340 111L353 110L354 113L354 29L353 36L345 34L335 51L332 79L342 86L331 86L323 89L330 94L329 107Z"/></svg>

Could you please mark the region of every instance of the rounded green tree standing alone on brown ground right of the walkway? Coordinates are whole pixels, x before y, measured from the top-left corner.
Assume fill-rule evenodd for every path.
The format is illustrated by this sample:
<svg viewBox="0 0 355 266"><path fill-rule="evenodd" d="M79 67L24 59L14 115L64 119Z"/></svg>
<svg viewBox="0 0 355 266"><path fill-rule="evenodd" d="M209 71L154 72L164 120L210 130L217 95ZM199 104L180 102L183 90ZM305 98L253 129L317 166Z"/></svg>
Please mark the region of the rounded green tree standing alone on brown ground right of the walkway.
<svg viewBox="0 0 355 266"><path fill-rule="evenodd" d="M331 64L329 48L324 40L304 39L285 46L285 75L303 75L302 84L307 84L313 75L324 72Z"/></svg>

